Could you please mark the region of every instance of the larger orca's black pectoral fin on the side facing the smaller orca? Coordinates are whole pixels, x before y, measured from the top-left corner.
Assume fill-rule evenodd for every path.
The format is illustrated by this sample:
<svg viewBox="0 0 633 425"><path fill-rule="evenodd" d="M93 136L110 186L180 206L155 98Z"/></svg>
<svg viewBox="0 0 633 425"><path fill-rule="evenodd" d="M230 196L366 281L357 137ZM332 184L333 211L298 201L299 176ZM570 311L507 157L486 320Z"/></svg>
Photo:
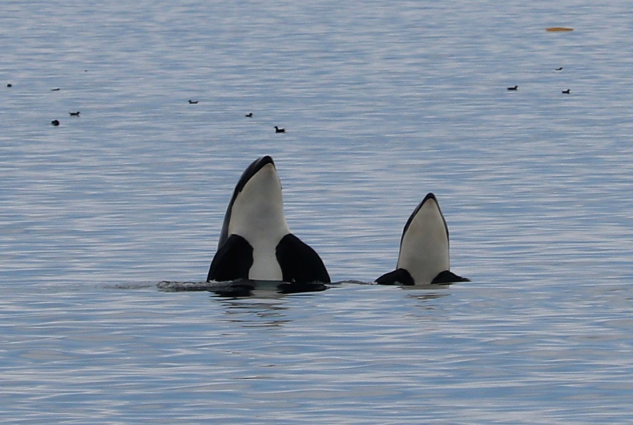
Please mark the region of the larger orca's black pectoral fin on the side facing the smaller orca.
<svg viewBox="0 0 633 425"><path fill-rule="evenodd" d="M279 241L275 255L281 267L284 282L330 283L330 275L321 257L294 234L289 233Z"/></svg>

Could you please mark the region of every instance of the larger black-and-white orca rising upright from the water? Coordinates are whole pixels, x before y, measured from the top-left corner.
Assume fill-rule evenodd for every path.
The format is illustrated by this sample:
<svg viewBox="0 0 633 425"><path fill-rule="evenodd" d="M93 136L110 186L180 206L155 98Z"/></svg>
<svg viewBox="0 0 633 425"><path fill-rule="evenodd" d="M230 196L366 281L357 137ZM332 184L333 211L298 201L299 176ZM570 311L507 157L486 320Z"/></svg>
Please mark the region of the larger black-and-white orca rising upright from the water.
<svg viewBox="0 0 633 425"><path fill-rule="evenodd" d="M254 160L237 182L206 277L207 282L237 279L330 283L316 251L285 222L281 182L270 156Z"/></svg>

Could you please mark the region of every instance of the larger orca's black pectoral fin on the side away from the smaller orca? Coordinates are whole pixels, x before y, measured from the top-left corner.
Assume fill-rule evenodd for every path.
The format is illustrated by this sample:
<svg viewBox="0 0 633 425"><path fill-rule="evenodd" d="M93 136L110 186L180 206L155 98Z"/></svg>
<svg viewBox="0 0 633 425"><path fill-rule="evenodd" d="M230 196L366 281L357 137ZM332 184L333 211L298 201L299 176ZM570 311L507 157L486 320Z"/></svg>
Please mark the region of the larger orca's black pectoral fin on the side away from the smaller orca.
<svg viewBox="0 0 633 425"><path fill-rule="evenodd" d="M225 282L248 279L251 265L253 265L253 247L242 236L232 234L215 253L206 281Z"/></svg>

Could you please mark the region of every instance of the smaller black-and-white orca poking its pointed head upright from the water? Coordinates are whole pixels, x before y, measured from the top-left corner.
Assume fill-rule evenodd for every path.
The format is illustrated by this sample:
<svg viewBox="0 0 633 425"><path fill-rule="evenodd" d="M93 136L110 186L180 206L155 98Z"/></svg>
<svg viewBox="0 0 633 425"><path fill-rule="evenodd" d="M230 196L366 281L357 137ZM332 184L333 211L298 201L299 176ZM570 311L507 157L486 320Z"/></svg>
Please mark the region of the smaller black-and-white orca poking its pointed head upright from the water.
<svg viewBox="0 0 633 425"><path fill-rule="evenodd" d="M429 193L404 225L396 270L375 282L426 285L469 281L450 270L448 225L436 196Z"/></svg>

